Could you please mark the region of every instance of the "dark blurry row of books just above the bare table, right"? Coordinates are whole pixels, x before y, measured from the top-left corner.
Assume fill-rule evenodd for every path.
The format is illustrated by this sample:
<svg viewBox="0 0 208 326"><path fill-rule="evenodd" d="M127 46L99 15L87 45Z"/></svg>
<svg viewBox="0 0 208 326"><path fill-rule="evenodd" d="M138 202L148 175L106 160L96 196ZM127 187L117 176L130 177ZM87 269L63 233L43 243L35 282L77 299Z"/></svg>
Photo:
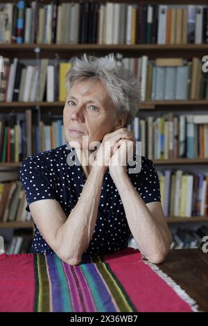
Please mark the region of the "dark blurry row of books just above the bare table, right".
<svg viewBox="0 0 208 326"><path fill-rule="evenodd" d="M203 237L208 236L207 225L202 225L196 230L187 230L184 228L178 228L173 233L173 241L171 243L171 249L188 249L188 248L201 248L203 243Z"/></svg>

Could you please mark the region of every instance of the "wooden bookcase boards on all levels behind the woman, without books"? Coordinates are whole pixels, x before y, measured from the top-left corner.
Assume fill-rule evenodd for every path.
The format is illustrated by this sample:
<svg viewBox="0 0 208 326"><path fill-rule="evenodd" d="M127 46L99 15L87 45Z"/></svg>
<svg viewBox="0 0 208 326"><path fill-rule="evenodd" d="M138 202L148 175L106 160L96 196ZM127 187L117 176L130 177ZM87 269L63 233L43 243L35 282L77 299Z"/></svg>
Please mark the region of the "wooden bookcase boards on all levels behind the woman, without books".
<svg viewBox="0 0 208 326"><path fill-rule="evenodd" d="M6 1L0 0L1 3ZM11 3L17 3L17 1L10 1ZM51 1L41 1L43 3L51 3ZM60 3L69 3L72 1L61 0ZM73 1L80 3L80 1ZM95 3L105 3L106 1L93 1ZM138 1L122 1L112 0L112 3L128 3L135 4ZM192 1L192 0L153 0L141 1L143 4L157 4L162 5L168 3L168 5L206 5L207 0ZM54 60L56 56L60 59L71 58L73 55L80 53L90 52L96 55L105 55L107 53L119 52L123 54L123 57L138 57L139 55L148 55L150 60L155 58L184 58L190 59L193 57L202 58L207 55L208 44L0 44L0 53L6 58L18 58L41 60L42 58L49 58ZM33 101L33 102L1 102L0 101L0 114L6 114L7 112L20 113L30 109L33 110L33 114L36 114L37 120L40 121L40 117L47 115L48 118L53 117L53 114L62 114L62 108L64 102L61 101ZM143 101L140 106L142 114L159 114L164 111L174 112L181 114L181 112L207 112L208 99L204 100L172 100L172 101ZM47 119L48 119L47 118ZM156 166L183 166L191 164L200 169L200 166L206 166L208 158L177 158L170 160L157 159L153 160ZM0 163L0 169L19 169L20 162L15 163ZM208 172L208 171L207 171ZM1 173L1 172L0 172ZM190 218L182 218L180 216L168 216L167 221L172 223L192 223L192 222L208 222L208 216L192 216ZM6 222L0 223L1 228L33 228L32 222Z"/></svg>

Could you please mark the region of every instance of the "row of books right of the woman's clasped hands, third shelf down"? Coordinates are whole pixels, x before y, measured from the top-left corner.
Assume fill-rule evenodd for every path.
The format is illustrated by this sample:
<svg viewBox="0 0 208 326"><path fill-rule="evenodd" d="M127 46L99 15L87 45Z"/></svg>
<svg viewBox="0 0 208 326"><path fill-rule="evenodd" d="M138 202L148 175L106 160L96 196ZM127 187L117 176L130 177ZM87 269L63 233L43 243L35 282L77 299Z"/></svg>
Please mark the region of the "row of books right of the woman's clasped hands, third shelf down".
<svg viewBox="0 0 208 326"><path fill-rule="evenodd" d="M127 128L141 141L141 154L150 160L208 158L207 114L135 117Z"/></svg>

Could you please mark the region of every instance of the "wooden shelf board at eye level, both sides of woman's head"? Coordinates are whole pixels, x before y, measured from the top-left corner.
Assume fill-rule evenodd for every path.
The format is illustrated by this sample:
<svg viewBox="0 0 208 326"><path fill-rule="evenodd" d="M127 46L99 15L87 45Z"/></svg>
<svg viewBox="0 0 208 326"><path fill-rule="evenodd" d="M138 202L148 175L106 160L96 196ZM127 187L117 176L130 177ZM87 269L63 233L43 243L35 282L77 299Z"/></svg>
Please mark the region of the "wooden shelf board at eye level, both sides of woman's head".
<svg viewBox="0 0 208 326"><path fill-rule="evenodd" d="M58 108L61 109L60 113L64 108L64 102L0 102L0 109L12 108L13 111L18 109L26 110L27 108L37 108L49 110L51 108ZM141 102L139 110L169 110L169 107L176 108L175 110L196 110L196 108L200 108L200 110L207 110L208 108L208 100L187 100L187 101L144 101ZM7 112L6 111L6 112Z"/></svg>

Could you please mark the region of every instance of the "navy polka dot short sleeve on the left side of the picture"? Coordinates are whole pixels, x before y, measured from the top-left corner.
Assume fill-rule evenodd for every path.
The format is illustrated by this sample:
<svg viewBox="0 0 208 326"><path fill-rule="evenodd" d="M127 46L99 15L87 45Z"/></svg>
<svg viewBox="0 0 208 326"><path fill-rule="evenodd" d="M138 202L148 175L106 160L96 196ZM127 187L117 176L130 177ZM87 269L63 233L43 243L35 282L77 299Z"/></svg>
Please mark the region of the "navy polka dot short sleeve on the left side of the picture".
<svg viewBox="0 0 208 326"><path fill-rule="evenodd" d="M37 157L26 157L21 163L19 178L26 193L28 205L42 199L56 199L55 189L46 165ZM26 211L30 212L29 206Z"/></svg>

